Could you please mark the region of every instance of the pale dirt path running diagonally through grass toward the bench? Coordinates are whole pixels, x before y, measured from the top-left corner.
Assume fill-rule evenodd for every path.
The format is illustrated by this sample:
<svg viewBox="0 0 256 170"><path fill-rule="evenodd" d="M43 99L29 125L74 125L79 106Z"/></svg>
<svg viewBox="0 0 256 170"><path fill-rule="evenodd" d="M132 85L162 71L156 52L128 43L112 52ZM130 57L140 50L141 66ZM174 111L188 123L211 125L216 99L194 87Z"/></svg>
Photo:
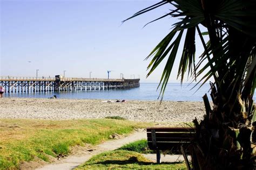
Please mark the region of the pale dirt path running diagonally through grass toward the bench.
<svg viewBox="0 0 256 170"><path fill-rule="evenodd" d="M111 151L115 150L125 144L131 143L136 140L145 139L146 138L146 132L145 131L138 131L130 136L127 136L125 138L121 139L115 139L115 140L108 140L103 144L97 145L95 147L95 150L91 152L85 152L82 155L71 155L65 159L62 159L58 162L55 162L54 164L46 165L42 168L37 168L38 170L46 170L46 169L55 169L55 170L64 170L64 169L73 169L79 166L80 164L83 164L85 161L89 160L93 155L102 153L104 151Z"/></svg>

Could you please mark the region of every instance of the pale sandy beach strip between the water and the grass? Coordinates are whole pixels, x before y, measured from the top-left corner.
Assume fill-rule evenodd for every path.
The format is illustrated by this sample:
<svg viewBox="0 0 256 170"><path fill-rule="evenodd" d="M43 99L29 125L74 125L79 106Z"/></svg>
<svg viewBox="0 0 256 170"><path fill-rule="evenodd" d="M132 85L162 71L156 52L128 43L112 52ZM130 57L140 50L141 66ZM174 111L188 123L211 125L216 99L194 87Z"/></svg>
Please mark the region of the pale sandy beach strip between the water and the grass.
<svg viewBox="0 0 256 170"><path fill-rule="evenodd" d="M203 102L1 98L0 118L83 119L121 116L139 122L190 122L205 114Z"/></svg>

